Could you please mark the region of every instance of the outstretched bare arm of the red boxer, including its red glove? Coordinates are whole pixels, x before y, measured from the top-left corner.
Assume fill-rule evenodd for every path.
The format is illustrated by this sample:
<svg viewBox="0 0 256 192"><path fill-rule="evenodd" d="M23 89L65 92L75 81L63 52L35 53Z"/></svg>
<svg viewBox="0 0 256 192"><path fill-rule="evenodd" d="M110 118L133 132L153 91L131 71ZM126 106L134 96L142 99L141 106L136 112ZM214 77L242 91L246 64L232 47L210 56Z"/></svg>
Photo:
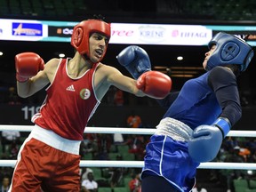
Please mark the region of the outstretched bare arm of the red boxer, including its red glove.
<svg viewBox="0 0 256 192"><path fill-rule="evenodd" d="M148 96L154 99L164 98L172 87L169 76L157 71L148 71L138 80L124 76L116 68L100 65L94 81L97 97L101 100L111 85L124 92L130 92L138 97Z"/></svg>

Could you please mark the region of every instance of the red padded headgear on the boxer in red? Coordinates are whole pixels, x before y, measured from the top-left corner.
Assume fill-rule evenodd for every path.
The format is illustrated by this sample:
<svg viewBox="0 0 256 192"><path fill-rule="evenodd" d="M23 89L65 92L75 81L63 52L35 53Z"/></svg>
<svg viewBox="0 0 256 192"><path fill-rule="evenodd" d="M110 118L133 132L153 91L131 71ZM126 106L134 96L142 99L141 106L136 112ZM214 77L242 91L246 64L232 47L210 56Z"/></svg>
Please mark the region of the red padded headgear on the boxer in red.
<svg viewBox="0 0 256 192"><path fill-rule="evenodd" d="M90 58L89 37L93 32L100 33L110 38L110 25L103 20L83 20L77 24L73 29L71 36L71 44L76 48L84 59ZM100 60L102 60L107 51L108 44L106 44L105 52L102 53Z"/></svg>

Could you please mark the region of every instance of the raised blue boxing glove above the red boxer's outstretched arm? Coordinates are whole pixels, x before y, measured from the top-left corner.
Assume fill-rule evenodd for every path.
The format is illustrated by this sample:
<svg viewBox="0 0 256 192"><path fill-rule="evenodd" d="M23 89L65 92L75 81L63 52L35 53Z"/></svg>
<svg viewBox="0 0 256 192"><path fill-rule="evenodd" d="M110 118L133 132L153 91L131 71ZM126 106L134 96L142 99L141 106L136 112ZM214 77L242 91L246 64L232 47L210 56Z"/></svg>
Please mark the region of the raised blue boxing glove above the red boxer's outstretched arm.
<svg viewBox="0 0 256 192"><path fill-rule="evenodd" d="M148 53L136 45L126 47L116 56L116 59L135 79L138 79L144 72L151 70Z"/></svg>

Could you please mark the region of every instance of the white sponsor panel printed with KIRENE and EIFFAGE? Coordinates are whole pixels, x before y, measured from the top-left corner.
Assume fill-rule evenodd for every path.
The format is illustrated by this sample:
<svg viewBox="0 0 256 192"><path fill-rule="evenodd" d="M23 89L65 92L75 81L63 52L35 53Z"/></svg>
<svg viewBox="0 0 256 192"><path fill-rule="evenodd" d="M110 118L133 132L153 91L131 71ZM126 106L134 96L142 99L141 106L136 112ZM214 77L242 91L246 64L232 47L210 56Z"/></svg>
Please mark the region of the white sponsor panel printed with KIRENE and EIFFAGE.
<svg viewBox="0 0 256 192"><path fill-rule="evenodd" d="M197 25L111 23L110 44L204 45L212 30Z"/></svg>

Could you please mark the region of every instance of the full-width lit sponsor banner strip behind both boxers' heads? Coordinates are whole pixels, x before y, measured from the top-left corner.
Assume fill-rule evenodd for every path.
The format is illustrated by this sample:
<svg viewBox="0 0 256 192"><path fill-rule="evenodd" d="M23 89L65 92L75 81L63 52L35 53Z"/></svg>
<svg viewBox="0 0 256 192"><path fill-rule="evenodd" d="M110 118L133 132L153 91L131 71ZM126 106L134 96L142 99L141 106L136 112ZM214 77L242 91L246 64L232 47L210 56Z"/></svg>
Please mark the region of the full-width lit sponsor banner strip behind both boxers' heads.
<svg viewBox="0 0 256 192"><path fill-rule="evenodd" d="M0 19L0 40L70 42L78 22L50 20ZM224 31L247 36L256 45L255 26L169 25L143 23L111 23L109 44L207 45L216 33Z"/></svg>

